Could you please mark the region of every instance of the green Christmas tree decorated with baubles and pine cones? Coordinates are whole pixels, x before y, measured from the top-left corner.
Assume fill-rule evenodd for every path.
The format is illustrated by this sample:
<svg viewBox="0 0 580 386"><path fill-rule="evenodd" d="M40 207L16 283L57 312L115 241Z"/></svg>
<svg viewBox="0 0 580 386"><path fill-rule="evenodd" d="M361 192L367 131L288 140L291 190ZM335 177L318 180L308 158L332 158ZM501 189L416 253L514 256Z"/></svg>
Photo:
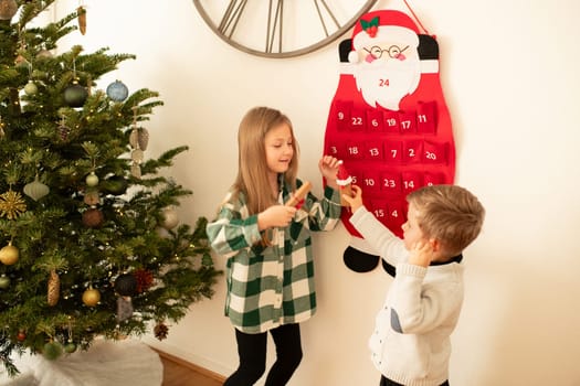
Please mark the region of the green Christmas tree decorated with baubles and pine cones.
<svg viewBox="0 0 580 386"><path fill-rule="evenodd" d="M54 0L0 0L0 358L52 360L117 340L168 332L211 298L205 218L179 222L192 194L164 171L178 147L148 159L143 124L158 93L97 81L130 54L57 42L86 28L84 7L34 26ZM166 173L167 174L167 173Z"/></svg>

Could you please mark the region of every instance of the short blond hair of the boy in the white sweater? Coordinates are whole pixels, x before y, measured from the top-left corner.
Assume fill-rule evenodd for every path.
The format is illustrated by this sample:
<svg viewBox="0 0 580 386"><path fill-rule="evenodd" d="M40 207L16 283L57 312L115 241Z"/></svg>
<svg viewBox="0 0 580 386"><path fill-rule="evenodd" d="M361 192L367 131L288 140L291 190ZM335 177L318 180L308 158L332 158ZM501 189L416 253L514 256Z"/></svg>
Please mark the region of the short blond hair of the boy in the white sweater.
<svg viewBox="0 0 580 386"><path fill-rule="evenodd" d="M407 201L416 207L425 237L437 239L450 257L458 255L482 230L485 208L464 187L424 186L411 192Z"/></svg>

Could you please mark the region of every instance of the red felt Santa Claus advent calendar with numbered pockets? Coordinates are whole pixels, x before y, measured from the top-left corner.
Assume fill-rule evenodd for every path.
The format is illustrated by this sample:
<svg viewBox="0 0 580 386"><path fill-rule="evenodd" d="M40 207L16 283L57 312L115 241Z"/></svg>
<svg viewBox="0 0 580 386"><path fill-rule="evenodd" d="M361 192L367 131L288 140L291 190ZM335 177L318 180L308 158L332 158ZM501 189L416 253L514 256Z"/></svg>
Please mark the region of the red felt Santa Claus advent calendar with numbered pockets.
<svg viewBox="0 0 580 386"><path fill-rule="evenodd" d="M439 44L407 13L379 10L360 18L351 39L340 43L339 56L325 153L344 161L352 183L362 187L369 211L402 237L407 194L424 185L451 184L455 175ZM370 271L380 258L349 217L345 207L342 223L351 235L345 264L358 272ZM394 275L386 261L382 267Z"/></svg>

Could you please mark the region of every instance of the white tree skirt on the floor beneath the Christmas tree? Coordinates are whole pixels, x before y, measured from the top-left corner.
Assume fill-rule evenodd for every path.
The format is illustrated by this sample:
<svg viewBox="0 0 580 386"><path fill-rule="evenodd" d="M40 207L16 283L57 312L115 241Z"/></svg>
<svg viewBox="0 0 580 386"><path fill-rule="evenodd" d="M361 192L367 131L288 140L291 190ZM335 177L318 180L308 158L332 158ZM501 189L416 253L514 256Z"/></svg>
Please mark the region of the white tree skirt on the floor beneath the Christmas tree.
<svg viewBox="0 0 580 386"><path fill-rule="evenodd" d="M42 355L12 358L20 375L0 373L2 386L159 386L164 366L148 345L135 341L96 340L88 351L63 354L56 361Z"/></svg>

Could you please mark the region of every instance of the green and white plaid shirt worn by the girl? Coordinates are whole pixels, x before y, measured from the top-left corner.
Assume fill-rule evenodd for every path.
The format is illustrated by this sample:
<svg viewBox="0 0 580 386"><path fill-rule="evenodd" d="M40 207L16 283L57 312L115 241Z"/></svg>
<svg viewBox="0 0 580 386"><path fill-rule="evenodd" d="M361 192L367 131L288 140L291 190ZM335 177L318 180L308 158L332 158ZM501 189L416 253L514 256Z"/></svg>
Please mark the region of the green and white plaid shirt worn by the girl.
<svg viewBox="0 0 580 386"><path fill-rule="evenodd" d="M298 185L300 182L298 181ZM267 229L264 246L257 215L249 215L243 194L229 192L218 218L208 224L212 248L226 261L225 315L245 333L299 323L316 311L310 230L331 230L340 217L340 193L325 187L318 200L308 193L287 227ZM283 186L278 202L288 201Z"/></svg>

